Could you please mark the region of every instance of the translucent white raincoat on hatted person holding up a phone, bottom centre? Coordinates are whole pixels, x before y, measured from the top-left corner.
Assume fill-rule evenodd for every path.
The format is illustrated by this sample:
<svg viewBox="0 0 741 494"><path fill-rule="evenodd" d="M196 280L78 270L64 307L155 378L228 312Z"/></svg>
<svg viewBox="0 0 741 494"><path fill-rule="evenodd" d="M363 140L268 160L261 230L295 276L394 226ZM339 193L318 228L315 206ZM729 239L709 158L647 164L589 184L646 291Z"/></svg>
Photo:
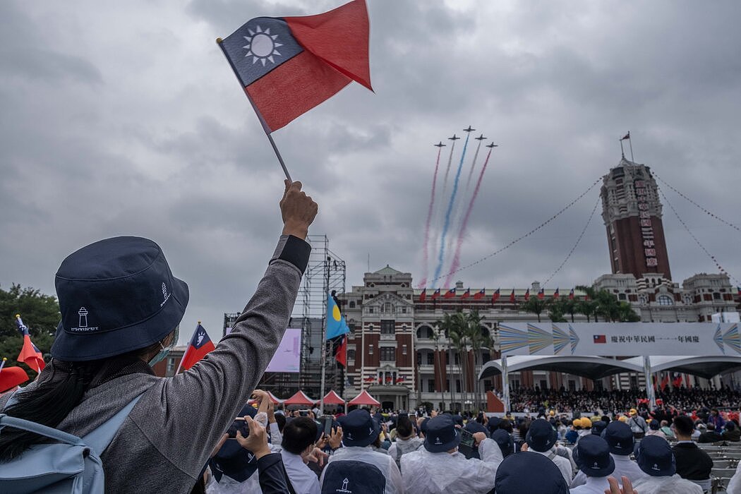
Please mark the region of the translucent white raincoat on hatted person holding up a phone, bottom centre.
<svg viewBox="0 0 741 494"><path fill-rule="evenodd" d="M494 489L502 463L499 444L486 438L479 444L481 459L462 453L430 453L425 447L402 456L402 476L409 494L473 494Z"/></svg>

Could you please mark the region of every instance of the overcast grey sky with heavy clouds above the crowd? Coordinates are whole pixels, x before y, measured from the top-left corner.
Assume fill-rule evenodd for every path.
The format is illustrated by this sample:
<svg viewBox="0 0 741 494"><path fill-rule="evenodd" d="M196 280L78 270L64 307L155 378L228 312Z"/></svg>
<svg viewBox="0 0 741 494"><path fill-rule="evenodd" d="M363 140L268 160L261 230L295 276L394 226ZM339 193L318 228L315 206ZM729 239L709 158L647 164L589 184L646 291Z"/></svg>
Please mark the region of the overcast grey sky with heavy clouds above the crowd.
<svg viewBox="0 0 741 494"><path fill-rule="evenodd" d="M53 293L67 254L145 236L190 286L181 341L199 319L218 339L223 313L242 309L273 251L283 185L214 40L256 16L341 1L0 2L0 287ZM469 124L500 147L462 264L579 196L619 162L628 130L636 161L741 224L739 2L368 0L368 9L375 93L350 84L274 133L319 203L310 233L327 234L347 261L348 290L369 254L371 270L422 277L432 144ZM502 290L545 281L598 193L454 280ZM741 278L741 232L665 193ZM610 271L600 212L548 288ZM667 204L664 228L674 281L717 273Z"/></svg>

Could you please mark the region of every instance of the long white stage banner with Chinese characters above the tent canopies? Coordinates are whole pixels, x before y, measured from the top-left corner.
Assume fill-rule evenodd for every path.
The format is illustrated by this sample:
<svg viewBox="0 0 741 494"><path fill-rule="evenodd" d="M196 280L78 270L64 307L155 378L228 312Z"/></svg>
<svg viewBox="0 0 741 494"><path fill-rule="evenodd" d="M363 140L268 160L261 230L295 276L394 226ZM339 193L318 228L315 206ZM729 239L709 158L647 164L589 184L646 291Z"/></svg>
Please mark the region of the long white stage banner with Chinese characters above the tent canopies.
<svg viewBox="0 0 741 494"><path fill-rule="evenodd" d="M499 324L499 343L507 356L737 356L738 327L702 322L513 323Z"/></svg>

